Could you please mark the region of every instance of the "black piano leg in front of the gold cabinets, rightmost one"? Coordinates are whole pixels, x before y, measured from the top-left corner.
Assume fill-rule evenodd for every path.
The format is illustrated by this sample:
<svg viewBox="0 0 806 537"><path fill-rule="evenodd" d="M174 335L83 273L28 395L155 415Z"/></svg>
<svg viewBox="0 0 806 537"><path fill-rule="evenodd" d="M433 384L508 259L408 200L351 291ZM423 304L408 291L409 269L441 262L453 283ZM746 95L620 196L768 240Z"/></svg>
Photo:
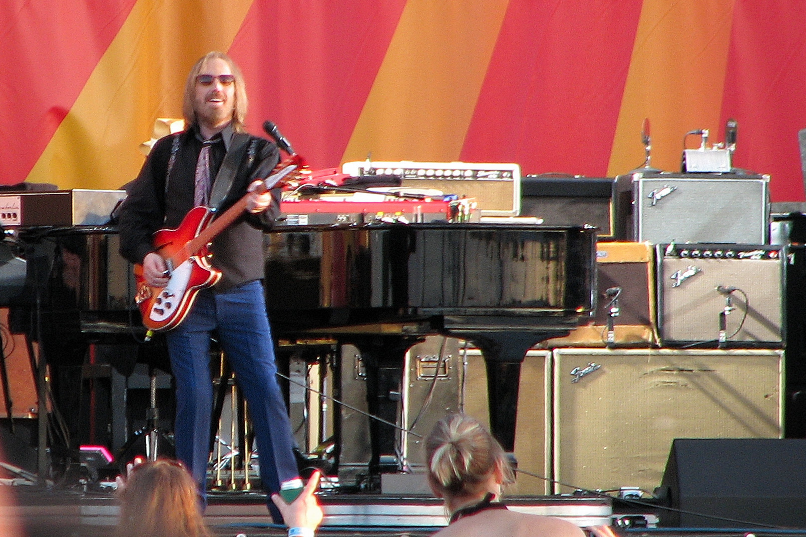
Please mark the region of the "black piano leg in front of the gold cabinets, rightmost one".
<svg viewBox="0 0 806 537"><path fill-rule="evenodd" d="M526 352L549 338L567 335L559 332L487 332L465 335L481 349L487 366L490 432L506 452L515 451L517 395L521 363Z"/></svg>

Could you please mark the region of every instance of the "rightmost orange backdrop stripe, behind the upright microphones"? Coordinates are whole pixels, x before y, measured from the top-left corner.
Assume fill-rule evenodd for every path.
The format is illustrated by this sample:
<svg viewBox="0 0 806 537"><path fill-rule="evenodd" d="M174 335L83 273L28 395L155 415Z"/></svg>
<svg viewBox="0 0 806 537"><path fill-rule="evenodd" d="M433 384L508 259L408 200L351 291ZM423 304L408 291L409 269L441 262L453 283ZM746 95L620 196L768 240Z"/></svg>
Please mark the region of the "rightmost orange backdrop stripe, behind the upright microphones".
<svg viewBox="0 0 806 537"><path fill-rule="evenodd" d="M680 169L683 135L717 133L734 0L645 1L621 101L608 174L644 161L641 129L650 119L652 165ZM692 140L692 145L696 147Z"/></svg>

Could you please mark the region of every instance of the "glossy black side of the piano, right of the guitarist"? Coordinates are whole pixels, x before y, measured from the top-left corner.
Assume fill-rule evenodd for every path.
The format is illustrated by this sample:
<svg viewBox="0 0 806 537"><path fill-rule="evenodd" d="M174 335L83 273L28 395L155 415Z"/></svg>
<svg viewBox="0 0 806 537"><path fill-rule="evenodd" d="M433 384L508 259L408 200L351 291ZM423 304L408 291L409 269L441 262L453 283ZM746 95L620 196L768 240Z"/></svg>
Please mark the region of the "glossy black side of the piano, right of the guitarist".
<svg viewBox="0 0 806 537"><path fill-rule="evenodd" d="M512 224L375 224L272 231L272 323L439 315L576 318L593 309L595 231ZM302 314L338 311L330 318ZM280 313L283 312L283 313ZM299 317L299 318L297 318Z"/></svg>

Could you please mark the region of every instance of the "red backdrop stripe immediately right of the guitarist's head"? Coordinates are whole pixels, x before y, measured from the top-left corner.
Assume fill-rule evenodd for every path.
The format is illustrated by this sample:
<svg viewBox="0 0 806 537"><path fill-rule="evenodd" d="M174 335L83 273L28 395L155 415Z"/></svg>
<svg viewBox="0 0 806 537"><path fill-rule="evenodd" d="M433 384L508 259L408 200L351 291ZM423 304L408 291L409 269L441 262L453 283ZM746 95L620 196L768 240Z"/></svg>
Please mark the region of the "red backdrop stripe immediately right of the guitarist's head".
<svg viewBox="0 0 806 537"><path fill-rule="evenodd" d="M250 131L271 119L312 167L339 166L404 6L256 0L231 48Z"/></svg>

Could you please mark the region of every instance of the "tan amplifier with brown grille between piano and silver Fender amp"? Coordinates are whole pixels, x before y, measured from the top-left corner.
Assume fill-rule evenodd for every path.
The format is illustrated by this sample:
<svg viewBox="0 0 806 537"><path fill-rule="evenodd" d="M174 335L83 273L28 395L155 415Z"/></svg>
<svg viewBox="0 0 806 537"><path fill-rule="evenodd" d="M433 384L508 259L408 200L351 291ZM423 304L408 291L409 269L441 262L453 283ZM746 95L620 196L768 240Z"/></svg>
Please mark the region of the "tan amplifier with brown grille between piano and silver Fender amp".
<svg viewBox="0 0 806 537"><path fill-rule="evenodd" d="M658 346L654 265L649 243L596 244L599 296L594 317L563 338L546 339L540 347ZM613 308L611 342L608 320Z"/></svg>

